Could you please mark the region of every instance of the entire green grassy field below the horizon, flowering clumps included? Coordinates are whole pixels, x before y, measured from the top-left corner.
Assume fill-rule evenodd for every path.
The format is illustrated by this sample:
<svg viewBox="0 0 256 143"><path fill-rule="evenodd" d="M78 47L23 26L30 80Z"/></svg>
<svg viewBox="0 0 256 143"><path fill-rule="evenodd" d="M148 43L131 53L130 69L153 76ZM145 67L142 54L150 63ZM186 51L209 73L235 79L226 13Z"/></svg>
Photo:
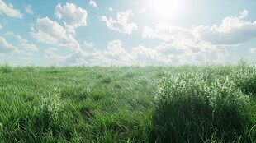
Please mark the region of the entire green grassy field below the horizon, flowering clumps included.
<svg viewBox="0 0 256 143"><path fill-rule="evenodd" d="M256 67L0 67L2 142L255 142Z"/></svg>

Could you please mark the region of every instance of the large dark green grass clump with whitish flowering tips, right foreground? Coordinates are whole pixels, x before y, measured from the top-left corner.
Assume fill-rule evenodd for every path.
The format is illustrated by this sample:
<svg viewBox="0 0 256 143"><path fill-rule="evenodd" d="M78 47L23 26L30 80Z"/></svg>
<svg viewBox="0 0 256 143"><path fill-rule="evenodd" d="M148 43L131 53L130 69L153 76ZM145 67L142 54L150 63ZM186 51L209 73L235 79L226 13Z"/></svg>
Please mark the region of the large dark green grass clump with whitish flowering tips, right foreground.
<svg viewBox="0 0 256 143"><path fill-rule="evenodd" d="M228 76L211 82L204 77L189 73L162 80L151 142L250 141L244 131L252 124L249 96Z"/></svg>

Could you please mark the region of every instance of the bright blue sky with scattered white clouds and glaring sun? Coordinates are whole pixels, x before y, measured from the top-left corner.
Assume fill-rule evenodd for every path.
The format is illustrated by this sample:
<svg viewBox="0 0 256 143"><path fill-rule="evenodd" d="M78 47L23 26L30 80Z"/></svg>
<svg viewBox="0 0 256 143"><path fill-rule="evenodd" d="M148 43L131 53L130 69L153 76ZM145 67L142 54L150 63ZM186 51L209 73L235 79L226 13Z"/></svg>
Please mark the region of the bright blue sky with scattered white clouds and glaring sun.
<svg viewBox="0 0 256 143"><path fill-rule="evenodd" d="M0 0L0 65L256 62L255 0Z"/></svg>

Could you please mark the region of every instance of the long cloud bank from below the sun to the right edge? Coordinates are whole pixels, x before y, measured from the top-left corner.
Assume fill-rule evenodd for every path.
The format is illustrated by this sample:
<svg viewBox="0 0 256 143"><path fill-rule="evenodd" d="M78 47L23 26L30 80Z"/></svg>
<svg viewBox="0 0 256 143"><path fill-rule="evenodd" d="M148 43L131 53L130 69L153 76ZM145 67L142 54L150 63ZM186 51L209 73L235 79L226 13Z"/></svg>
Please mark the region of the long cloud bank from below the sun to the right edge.
<svg viewBox="0 0 256 143"><path fill-rule="evenodd" d="M256 21L244 21L248 11L239 16L228 16L220 25L199 25L193 29L159 23L156 29L145 26L142 38L175 41L181 39L200 39L217 45L241 44L256 37Z"/></svg>

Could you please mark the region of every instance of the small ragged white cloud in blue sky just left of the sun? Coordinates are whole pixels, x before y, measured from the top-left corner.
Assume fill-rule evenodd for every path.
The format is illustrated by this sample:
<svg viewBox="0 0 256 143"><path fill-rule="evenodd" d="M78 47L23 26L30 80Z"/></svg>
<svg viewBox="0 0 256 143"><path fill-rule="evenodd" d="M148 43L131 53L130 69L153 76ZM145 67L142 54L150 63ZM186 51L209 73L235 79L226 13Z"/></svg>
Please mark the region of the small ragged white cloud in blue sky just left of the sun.
<svg viewBox="0 0 256 143"><path fill-rule="evenodd" d="M128 23L129 16L132 16L133 13L128 10L126 12L118 12L116 20L113 20L111 17L107 19L106 16L101 17L101 21L105 21L106 25L111 30L116 30L121 34L131 34L133 30L137 30L137 25L135 23Z"/></svg>

